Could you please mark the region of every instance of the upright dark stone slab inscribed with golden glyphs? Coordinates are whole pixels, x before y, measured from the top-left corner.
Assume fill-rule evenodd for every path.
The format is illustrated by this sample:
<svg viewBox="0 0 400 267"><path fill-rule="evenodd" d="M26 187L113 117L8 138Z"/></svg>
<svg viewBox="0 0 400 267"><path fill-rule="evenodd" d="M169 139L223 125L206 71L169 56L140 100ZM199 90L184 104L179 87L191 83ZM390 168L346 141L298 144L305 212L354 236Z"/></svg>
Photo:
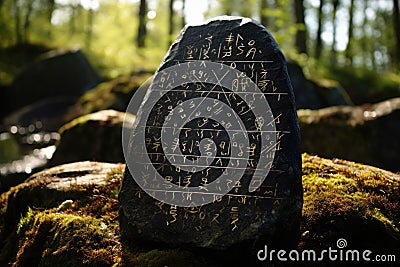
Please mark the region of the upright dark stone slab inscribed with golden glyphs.
<svg viewBox="0 0 400 267"><path fill-rule="evenodd" d="M285 59L259 23L219 17L186 27L133 127L119 193L124 239L253 252L297 244L294 96Z"/></svg>

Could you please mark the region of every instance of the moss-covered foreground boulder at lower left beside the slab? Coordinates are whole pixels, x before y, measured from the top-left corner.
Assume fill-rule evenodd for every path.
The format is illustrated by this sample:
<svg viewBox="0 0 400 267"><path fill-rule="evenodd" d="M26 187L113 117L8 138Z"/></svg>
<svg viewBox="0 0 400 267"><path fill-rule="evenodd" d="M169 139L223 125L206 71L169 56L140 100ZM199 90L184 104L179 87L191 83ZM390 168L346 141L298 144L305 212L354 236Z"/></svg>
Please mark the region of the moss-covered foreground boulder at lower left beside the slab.
<svg viewBox="0 0 400 267"><path fill-rule="evenodd" d="M81 162L32 176L0 197L0 266L112 266L120 261L123 165Z"/></svg>

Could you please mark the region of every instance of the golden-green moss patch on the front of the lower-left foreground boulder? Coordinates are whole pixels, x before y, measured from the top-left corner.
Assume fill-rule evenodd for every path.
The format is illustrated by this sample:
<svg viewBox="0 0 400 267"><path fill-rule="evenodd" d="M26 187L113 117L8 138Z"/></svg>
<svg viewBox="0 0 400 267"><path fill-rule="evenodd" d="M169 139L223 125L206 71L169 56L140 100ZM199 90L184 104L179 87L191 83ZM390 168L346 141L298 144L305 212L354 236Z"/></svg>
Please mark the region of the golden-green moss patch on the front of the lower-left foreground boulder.
<svg viewBox="0 0 400 267"><path fill-rule="evenodd" d="M15 265L111 266L119 261L115 232L86 216L35 212L21 231Z"/></svg>

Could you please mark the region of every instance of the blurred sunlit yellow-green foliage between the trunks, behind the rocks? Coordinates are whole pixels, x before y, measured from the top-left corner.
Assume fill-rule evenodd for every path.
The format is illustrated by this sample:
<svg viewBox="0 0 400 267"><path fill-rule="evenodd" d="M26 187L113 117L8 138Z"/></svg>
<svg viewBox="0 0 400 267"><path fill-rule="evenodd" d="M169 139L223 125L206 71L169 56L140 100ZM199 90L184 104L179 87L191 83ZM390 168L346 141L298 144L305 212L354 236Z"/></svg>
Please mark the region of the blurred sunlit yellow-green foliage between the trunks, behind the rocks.
<svg viewBox="0 0 400 267"><path fill-rule="evenodd" d="M174 1L173 37L182 27L183 0ZM263 1L263 4L261 3ZM139 1L83 0L2 0L0 5L0 84L9 84L21 68L31 62L40 49L81 47L90 61L106 78L121 74L154 71L168 49L171 36L167 29L167 0L147 0L146 47L135 44ZM189 1L187 1L189 2ZM199 1L196 1L199 2ZM309 77L339 80L354 102L371 102L398 95L398 60L393 1L355 1L354 32L351 52L346 48L350 0L339 1L337 14L332 1L324 1L322 55L312 52L317 39L319 1L302 1L305 25L296 24L294 2L290 0L212 0L204 17L223 14L268 18L265 25L286 55L301 58ZM204 3L203 3L204 4ZM186 3L188 7L188 3ZM263 9L261 10L261 7ZM186 10L189 18L197 10ZM335 21L333 21L335 19ZM399 22L400 23L400 22ZM336 27L336 30L333 30ZM298 55L295 36L307 32L308 52ZM336 38L333 38L333 33ZM346 39L347 37L347 39ZM333 43L333 42L336 43ZM35 44L35 45L28 45ZM30 47L30 49L22 49ZM348 46L347 46L348 47ZM308 55L306 55L308 54ZM350 60L349 60L350 57ZM384 74L382 74L384 73ZM366 97L363 97L366 96Z"/></svg>

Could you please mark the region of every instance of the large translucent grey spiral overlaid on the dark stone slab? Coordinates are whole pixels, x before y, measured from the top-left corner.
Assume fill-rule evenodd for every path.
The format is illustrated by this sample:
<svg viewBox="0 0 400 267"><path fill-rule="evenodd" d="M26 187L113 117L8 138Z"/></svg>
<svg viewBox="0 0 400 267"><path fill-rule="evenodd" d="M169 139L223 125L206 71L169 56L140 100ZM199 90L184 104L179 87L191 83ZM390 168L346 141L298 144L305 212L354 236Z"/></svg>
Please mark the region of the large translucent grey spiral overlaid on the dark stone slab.
<svg viewBox="0 0 400 267"><path fill-rule="evenodd" d="M139 103L133 128L124 122L124 156L153 198L197 207L228 194L246 175L249 193L267 177L275 119L244 72L209 61L180 63L139 88L127 112L136 113Z"/></svg>

